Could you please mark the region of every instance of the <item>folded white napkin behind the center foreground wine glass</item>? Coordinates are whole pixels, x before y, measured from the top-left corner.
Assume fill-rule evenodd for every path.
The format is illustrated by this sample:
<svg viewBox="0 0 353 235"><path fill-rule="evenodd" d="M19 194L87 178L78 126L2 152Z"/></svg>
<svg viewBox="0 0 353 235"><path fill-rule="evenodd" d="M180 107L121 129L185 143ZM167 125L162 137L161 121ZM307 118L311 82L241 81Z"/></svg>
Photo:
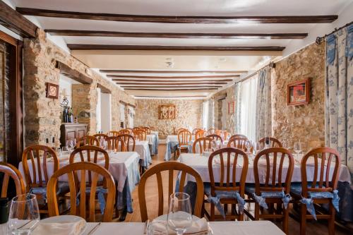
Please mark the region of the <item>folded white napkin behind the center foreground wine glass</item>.
<svg viewBox="0 0 353 235"><path fill-rule="evenodd" d="M156 231L165 231L167 227L167 215L157 217L153 219L153 225ZM174 230L168 229L168 234L177 234ZM205 218L198 218L193 216L193 223L191 227L187 228L184 234L193 235L207 235L208 234L208 222Z"/></svg>

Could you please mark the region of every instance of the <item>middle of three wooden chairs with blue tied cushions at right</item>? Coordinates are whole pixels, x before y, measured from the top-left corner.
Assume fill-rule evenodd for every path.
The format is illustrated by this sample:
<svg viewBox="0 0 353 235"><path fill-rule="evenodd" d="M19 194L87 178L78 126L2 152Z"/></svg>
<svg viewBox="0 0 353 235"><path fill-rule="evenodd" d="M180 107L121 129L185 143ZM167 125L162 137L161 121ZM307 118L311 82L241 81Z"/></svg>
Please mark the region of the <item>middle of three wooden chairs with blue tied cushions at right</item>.
<svg viewBox="0 0 353 235"><path fill-rule="evenodd" d="M283 164L285 163L285 159L287 159L287 164L285 164L287 168L287 174L285 174L285 179L283 179L282 175L285 171ZM263 176L259 175L259 168L261 168L261 171L263 171ZM263 169L265 169L265 171ZM251 215L249 212L245 211L246 215L255 220L282 219L282 230L285 232L285 234L288 234L289 205L287 208L285 208L282 198L285 197L285 195L288 195L290 192L293 169L294 158L292 153L285 148L271 147L258 152L253 161L255 186L247 185L245 187L246 195L248 195L249 198L252 198L253 202L255 202L255 217L253 217L253 215ZM263 198L265 198L265 203L270 204L268 205L268 213L263 213L264 211L260 208L259 203L257 203L255 200L254 193L256 196L262 195ZM265 195L265 193L270 193L271 195ZM275 204L277 205L276 210L274 210Z"/></svg>

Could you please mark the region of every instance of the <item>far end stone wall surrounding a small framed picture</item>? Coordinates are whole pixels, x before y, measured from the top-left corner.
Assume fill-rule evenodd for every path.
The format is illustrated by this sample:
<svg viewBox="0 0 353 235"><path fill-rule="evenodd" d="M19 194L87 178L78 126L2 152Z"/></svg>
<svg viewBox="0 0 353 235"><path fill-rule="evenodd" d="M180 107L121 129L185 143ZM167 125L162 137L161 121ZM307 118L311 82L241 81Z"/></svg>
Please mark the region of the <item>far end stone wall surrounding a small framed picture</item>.
<svg viewBox="0 0 353 235"><path fill-rule="evenodd" d="M203 100L136 100L134 126L154 126L164 139L173 133L173 128L202 126ZM158 105L175 104L177 115L172 120L158 119Z"/></svg>

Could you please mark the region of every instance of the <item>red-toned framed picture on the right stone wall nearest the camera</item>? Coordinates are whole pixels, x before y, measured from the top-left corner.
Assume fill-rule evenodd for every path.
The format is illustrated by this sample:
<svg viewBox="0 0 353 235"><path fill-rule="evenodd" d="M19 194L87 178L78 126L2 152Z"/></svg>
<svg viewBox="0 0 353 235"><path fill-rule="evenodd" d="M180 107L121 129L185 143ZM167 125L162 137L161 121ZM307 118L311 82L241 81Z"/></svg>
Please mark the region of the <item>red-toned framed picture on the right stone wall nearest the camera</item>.
<svg viewBox="0 0 353 235"><path fill-rule="evenodd" d="M300 80L287 85L287 104L301 105L309 104L310 99L310 78Z"/></svg>

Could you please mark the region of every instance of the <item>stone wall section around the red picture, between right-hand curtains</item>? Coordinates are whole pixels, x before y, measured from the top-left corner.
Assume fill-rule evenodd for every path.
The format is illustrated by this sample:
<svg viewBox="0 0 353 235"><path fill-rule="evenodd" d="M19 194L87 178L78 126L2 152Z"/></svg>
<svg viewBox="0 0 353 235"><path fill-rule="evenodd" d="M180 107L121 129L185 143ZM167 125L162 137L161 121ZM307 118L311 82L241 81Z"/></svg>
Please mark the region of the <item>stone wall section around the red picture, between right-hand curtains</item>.
<svg viewBox="0 0 353 235"><path fill-rule="evenodd" d="M287 105L287 85L311 78L310 103ZM273 136L287 147L301 141L309 147L325 144L325 43L311 44L276 63L272 69Z"/></svg>

